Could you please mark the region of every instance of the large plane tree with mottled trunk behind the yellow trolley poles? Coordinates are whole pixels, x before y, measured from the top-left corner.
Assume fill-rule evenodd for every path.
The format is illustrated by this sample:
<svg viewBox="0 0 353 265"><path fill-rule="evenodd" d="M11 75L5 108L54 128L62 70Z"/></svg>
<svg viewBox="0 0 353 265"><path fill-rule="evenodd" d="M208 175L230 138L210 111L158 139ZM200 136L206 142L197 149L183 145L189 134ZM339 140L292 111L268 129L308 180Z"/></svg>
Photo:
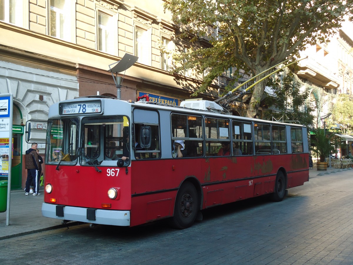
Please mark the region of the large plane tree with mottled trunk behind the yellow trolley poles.
<svg viewBox="0 0 353 265"><path fill-rule="evenodd" d="M178 37L195 43L207 39L210 47L175 53L174 73L193 68L204 75L194 93L204 93L225 69L257 75L316 41L327 42L352 14L353 0L168 0L164 7L180 26ZM267 73L270 73L268 71ZM265 75L265 74L264 74ZM247 117L256 117L266 80L253 87ZM234 82L233 82L234 83ZM226 90L231 90L229 83Z"/></svg>

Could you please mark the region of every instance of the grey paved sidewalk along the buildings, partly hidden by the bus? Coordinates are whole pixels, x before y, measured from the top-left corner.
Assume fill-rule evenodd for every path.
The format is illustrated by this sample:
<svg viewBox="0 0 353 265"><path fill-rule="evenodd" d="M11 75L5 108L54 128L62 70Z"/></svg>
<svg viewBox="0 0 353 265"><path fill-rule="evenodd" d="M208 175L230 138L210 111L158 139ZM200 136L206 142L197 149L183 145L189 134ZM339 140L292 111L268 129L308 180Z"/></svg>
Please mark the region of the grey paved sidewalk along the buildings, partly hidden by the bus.
<svg viewBox="0 0 353 265"><path fill-rule="evenodd" d="M352 169L317 171L316 168L309 170L310 178L324 174L353 175L353 171ZM6 212L0 213L0 240L77 224L72 222L63 225L61 220L43 217L41 208L44 190L40 190L40 193L39 196L25 196L24 191L11 192L10 225L6 225Z"/></svg>

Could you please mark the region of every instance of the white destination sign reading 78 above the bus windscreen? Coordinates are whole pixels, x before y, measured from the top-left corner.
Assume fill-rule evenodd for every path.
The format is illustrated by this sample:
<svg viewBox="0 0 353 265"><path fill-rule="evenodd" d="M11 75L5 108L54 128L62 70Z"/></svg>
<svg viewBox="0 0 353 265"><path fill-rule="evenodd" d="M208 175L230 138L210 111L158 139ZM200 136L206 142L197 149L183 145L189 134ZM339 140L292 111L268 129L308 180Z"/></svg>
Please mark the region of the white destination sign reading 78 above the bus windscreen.
<svg viewBox="0 0 353 265"><path fill-rule="evenodd" d="M60 115L77 115L77 114L100 114L102 113L102 101L78 101L59 104Z"/></svg>

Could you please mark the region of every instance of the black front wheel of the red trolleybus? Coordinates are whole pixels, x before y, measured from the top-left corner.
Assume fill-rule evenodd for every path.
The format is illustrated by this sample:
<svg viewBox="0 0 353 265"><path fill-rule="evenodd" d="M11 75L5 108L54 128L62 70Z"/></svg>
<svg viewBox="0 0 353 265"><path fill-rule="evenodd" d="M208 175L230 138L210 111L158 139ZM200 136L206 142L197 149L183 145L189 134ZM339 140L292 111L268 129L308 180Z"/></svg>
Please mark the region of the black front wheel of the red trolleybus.
<svg viewBox="0 0 353 265"><path fill-rule="evenodd" d="M170 218L173 228L184 229L190 227L196 219L199 202L194 185L184 183L175 199L174 216Z"/></svg>

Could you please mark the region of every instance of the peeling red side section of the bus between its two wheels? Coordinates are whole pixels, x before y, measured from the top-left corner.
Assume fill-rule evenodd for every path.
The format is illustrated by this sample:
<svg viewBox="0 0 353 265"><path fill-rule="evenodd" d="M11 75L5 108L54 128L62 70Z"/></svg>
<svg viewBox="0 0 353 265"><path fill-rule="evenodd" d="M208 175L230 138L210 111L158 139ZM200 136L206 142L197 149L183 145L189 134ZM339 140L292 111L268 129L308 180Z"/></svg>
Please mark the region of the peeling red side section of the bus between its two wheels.
<svg viewBox="0 0 353 265"><path fill-rule="evenodd" d="M267 166L268 159L239 156L204 160L208 172L203 182L203 208L273 192L277 169Z"/></svg>

